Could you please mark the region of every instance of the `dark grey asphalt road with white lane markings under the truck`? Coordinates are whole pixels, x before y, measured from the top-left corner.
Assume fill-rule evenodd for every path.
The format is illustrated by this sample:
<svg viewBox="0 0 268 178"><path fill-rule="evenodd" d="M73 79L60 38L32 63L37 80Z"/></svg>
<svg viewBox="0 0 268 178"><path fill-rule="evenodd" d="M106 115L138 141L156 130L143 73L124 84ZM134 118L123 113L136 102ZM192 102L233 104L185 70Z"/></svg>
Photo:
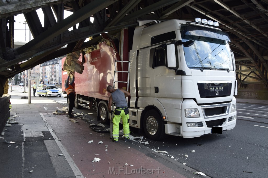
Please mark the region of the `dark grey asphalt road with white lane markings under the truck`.
<svg viewBox="0 0 268 178"><path fill-rule="evenodd" d="M68 106L64 97L50 99ZM87 113L87 109L74 110ZM268 175L267 111L266 105L237 104L237 122L232 130L191 139L175 136L162 141L145 139L149 144L143 144L166 151L165 156L213 178L264 178ZM132 131L133 136L145 137L142 132Z"/></svg>

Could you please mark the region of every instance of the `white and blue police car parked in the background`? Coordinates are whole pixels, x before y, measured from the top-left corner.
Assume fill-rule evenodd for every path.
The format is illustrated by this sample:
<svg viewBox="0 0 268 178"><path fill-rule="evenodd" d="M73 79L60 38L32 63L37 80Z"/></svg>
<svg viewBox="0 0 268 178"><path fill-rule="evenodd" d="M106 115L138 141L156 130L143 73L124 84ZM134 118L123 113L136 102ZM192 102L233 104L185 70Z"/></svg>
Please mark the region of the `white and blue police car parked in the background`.
<svg viewBox="0 0 268 178"><path fill-rule="evenodd" d="M58 89L55 85L44 85L43 88L41 86L37 86L36 94L40 94L42 96L59 96L61 97L61 90Z"/></svg>

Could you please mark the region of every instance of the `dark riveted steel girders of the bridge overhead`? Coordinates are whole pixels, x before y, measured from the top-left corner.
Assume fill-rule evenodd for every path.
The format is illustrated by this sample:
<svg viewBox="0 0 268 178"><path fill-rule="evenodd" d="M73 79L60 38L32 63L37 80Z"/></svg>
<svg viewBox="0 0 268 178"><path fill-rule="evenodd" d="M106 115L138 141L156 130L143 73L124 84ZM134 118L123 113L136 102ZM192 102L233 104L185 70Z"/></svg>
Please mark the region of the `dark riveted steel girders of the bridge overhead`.
<svg viewBox="0 0 268 178"><path fill-rule="evenodd" d="M36 12L39 8L43 26ZM230 34L239 86L259 84L267 89L267 9L268 0L0 0L0 85L33 66L94 45L102 39L100 33L112 35L136 26L138 20L200 17L218 21ZM66 11L73 14L64 19ZM33 39L14 48L17 14L24 14ZM93 39L84 42L90 36Z"/></svg>

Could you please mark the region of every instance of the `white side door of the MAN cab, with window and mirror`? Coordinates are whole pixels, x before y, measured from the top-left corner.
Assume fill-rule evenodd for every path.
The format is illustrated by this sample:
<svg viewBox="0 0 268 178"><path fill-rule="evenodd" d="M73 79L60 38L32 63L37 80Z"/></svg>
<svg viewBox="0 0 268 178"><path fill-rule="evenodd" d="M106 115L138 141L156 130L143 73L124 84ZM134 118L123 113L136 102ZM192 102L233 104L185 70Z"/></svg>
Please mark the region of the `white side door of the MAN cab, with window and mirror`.
<svg viewBox="0 0 268 178"><path fill-rule="evenodd" d="M155 48L154 84L155 97L161 102L171 122L181 120L181 75L177 75L179 60L176 44L164 44Z"/></svg>

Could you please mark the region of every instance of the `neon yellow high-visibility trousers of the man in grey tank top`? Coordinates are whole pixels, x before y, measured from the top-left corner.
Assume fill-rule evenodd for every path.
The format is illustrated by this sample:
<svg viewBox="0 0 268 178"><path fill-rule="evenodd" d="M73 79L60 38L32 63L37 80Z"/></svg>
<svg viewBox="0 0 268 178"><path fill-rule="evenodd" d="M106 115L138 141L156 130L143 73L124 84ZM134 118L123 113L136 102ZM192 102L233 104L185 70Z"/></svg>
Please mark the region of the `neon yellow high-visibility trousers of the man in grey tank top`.
<svg viewBox="0 0 268 178"><path fill-rule="evenodd" d="M120 113L120 114L119 114ZM119 115L116 115L119 114ZM129 114L125 114L124 109L116 109L114 111L114 117L113 117L113 139L118 140L119 138L119 122L122 117L123 121L123 130L124 130L124 136L129 139Z"/></svg>

